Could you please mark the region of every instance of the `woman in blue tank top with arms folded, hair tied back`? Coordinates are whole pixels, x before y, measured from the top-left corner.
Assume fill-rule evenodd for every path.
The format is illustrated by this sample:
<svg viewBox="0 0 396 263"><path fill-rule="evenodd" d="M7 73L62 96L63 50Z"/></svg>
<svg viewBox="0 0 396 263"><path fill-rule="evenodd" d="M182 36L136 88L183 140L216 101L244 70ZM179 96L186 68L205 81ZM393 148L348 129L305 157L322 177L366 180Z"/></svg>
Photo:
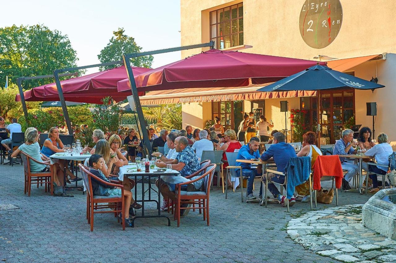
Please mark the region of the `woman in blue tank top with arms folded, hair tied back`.
<svg viewBox="0 0 396 263"><path fill-rule="evenodd" d="M59 139L59 130L57 127L52 127L49 129L48 138L44 141L43 147L41 148L41 153L44 154L46 157L57 153L57 152L65 152L63 150L63 143L61 139ZM66 166L66 174L69 175L70 179L67 179L67 183L76 182L82 180L82 178L76 177L73 173L69 170L66 160L62 159L55 159L59 165L59 169L63 171L63 168Z"/></svg>

